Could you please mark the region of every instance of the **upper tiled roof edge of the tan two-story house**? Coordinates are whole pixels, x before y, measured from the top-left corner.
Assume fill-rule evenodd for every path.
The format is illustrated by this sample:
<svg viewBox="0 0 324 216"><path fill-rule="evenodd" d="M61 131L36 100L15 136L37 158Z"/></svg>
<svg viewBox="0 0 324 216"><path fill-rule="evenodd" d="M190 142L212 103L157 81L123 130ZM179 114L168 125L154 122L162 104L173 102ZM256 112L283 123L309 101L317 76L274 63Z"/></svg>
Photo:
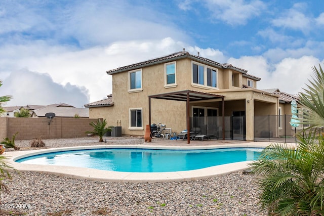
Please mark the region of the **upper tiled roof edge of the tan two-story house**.
<svg viewBox="0 0 324 216"><path fill-rule="evenodd" d="M261 78L257 77L257 76L253 76L251 74L248 74L247 70L239 68L239 67L235 67L229 63L218 63L215 62L213 60L210 59L206 59L200 56L195 56L195 55L191 55L188 52L178 52L178 53L173 53L167 56L163 56L163 57L159 57L159 58L155 58L155 59L151 59L151 60L147 60L147 61L143 61L143 62L139 62L136 64L131 64L131 65L127 65L124 67L119 67L116 69L112 69L112 70L108 70L106 71L107 74L114 74L114 73L119 73L119 72L124 72L124 71L128 71L128 70L133 70L133 69L138 69L141 68L143 66L149 66L149 65L154 65L154 64L160 64L160 63L164 63L164 62L170 62L171 60L177 60L177 59L182 59L182 58L190 58L192 60L195 61L200 61L200 62L205 62L207 64L213 65L214 67L217 68L230 68L232 70L236 70L239 71L243 74L245 74L245 76L248 76L250 78L256 79L256 80L261 80Z"/></svg>

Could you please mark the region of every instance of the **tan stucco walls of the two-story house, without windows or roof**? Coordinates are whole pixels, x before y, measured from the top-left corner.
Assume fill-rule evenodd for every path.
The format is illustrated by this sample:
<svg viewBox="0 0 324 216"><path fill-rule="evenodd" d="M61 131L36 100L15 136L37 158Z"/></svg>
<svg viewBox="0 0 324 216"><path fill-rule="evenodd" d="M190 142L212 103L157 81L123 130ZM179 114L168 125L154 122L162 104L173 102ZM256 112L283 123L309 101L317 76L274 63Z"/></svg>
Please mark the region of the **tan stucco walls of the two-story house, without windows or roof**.
<svg viewBox="0 0 324 216"><path fill-rule="evenodd" d="M277 97L261 97L261 91L254 89L240 89L242 82L246 84L247 78L238 73L239 87L232 87L231 69L218 70L218 90L207 87L197 87L191 83L191 63L190 59L180 59L176 61L177 85L172 88L166 88L165 85L165 64L152 65L142 68L142 88L141 92L129 92L129 71L119 72L112 75L112 94L114 105L112 107L91 108L90 117L106 118L109 125L122 127L124 135L144 135L145 125L148 124L148 96L175 92L181 90L207 91L225 96L225 115L231 116L233 111L246 111L247 115L247 139L253 139L253 116L256 112L263 112L260 109L266 108L275 113L272 109L277 106ZM237 73L235 71L235 73ZM256 84L256 82L254 83ZM256 91L256 93L255 93ZM250 99L250 102L247 102ZM254 104L255 100L261 101L261 104ZM269 104L276 104L270 105ZM267 104L267 105L266 105ZM194 106L216 107L219 115L222 114L221 103L192 103ZM259 107L260 105L260 107ZM130 130L129 109L141 108L143 117L143 127L136 131ZM277 108L275 108L277 109ZM190 106L190 113L192 107ZM190 114L192 116L192 114ZM173 131L181 132L186 128L186 105L185 102L170 100L151 100L151 123L163 123L171 127Z"/></svg>

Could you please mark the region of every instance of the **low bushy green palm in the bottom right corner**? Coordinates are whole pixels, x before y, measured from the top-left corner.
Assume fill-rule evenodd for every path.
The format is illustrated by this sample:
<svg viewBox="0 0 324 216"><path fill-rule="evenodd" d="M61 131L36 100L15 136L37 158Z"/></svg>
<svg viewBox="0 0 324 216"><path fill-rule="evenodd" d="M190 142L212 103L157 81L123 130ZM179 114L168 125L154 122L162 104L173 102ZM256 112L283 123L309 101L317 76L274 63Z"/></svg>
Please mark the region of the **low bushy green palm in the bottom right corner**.
<svg viewBox="0 0 324 216"><path fill-rule="evenodd" d="M261 207L269 215L324 215L324 138L298 135L297 147L272 144L253 162Z"/></svg>

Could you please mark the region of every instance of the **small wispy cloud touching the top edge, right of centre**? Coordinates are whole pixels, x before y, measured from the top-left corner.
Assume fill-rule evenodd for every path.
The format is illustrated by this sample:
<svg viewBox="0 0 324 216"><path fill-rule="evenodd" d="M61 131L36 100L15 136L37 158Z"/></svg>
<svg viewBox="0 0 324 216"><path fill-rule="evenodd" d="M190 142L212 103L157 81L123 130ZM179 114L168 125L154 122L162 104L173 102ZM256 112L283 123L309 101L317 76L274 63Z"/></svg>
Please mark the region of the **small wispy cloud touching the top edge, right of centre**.
<svg viewBox="0 0 324 216"><path fill-rule="evenodd" d="M245 25L266 9L266 5L258 0L207 0L206 7L212 12L212 18L230 25Z"/></svg>

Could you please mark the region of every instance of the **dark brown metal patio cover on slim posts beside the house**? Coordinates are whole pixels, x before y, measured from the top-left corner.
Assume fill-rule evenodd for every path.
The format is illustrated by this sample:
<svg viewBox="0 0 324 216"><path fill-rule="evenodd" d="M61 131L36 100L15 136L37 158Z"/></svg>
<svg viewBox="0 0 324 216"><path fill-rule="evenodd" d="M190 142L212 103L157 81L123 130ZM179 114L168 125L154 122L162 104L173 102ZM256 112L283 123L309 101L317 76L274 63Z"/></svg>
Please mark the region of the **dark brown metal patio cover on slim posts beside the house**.
<svg viewBox="0 0 324 216"><path fill-rule="evenodd" d="M190 111L189 111L189 104L190 101L203 101L203 100L211 100L211 99L222 99L222 117L223 117L223 140L225 140L225 121L224 121L224 96L222 95L215 95L212 93L205 93L199 91L192 91L192 90L184 90L178 92L170 92L170 93L162 93L158 95L150 95L148 96L148 123L151 125L151 99L163 99L163 100L173 100L173 101L185 101L186 102L186 111L187 111L187 141L190 144Z"/></svg>

